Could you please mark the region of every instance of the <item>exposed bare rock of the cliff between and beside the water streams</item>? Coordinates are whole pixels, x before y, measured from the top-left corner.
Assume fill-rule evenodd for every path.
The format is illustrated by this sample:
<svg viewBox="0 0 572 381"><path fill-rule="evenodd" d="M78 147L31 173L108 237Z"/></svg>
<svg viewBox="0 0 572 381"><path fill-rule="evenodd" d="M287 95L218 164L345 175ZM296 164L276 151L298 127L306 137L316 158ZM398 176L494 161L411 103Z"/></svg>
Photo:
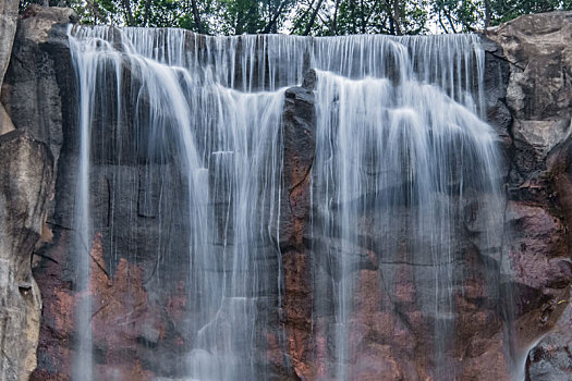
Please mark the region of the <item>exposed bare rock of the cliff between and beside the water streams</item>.
<svg viewBox="0 0 572 381"><path fill-rule="evenodd" d="M78 157L77 96L63 24L73 21L73 13L65 9L28 9L19 20L2 85L0 99L16 128L0 137L0 162L11 163L0 169L0 218L10 226L0 232L0 260L7 262L0 272L0 347L9 354L2 357L8 360L2 360L0 371L7 380L26 379L35 367L32 348L38 329L38 367L32 379L69 380L71 374L77 336L74 306L82 297L74 288L70 242ZM572 377L568 349L572 344L568 307L572 282L570 40L571 13L520 17L483 36L487 116L502 138L507 162L508 202L503 230L496 236L506 249L501 257L489 255L490 247L479 239L487 221L475 217L460 228L467 247L461 270L471 276L466 293L455 296L458 333L450 355L459 380L508 379L512 369L524 370L531 347L528 379ZM309 71L301 87L285 93L284 194L279 226L281 309L268 311L267 329L256 337L260 343L257 356L270 379L329 377L324 364L331 355L327 333L331 316L313 311L312 274L320 265L312 248L319 243L311 242L308 234L315 155L314 74ZM95 138L107 137L113 138L105 133ZM173 158L149 165L138 162L129 147L123 152L121 163L102 152L90 184L90 208L99 225L90 245L89 279L95 372L105 380L175 378L184 373L190 303L182 270L187 266L187 226L177 221L187 200L178 190L182 180L173 169ZM170 196L161 197L166 193ZM166 199L179 199L181 205L167 205ZM171 210L171 218L156 218L159 208ZM466 210L471 208L468 202ZM148 248L161 238L169 242L163 248L171 257L158 263L156 253L148 253ZM29 267L33 251L34 276L44 299L40 325L41 303ZM132 256L115 258L113 253ZM354 300L360 312L352 318L350 339L356 353L352 377L431 379L431 346L427 345L431 333L412 302L421 292L412 282L412 266L400 265L394 279L398 299L387 300L379 283L388 265L379 263L373 250L362 257ZM269 276L278 276L277 266L268 265ZM485 302L484 273L488 268L498 269L501 284L492 303ZM169 273L165 284L154 283L158 269ZM268 297L278 300L278 291L268 291ZM514 298L514 308L506 308L508 298ZM514 331L506 335L502 322L509 320L514 321Z"/></svg>

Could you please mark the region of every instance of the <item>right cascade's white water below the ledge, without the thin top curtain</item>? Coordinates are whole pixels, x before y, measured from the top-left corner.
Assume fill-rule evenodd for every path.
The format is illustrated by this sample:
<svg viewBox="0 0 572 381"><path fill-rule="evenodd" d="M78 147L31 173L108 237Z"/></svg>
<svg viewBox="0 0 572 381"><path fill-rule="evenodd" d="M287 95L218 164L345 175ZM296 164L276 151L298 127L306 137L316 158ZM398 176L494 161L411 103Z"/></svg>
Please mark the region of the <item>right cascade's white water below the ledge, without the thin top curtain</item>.
<svg viewBox="0 0 572 381"><path fill-rule="evenodd" d="M413 78L395 85L319 72L317 84L314 234L338 241L325 253L336 274L337 379L348 378L352 273L367 249L378 256L390 295L397 265L421 268L414 278L426 290L416 303L434 320L436 361L450 373L439 357L454 331L454 293L463 281L454 273L462 260L455 237L465 195L498 197L495 134L441 90ZM500 199L488 202L482 212L499 210ZM377 232L375 242L365 231Z"/></svg>

